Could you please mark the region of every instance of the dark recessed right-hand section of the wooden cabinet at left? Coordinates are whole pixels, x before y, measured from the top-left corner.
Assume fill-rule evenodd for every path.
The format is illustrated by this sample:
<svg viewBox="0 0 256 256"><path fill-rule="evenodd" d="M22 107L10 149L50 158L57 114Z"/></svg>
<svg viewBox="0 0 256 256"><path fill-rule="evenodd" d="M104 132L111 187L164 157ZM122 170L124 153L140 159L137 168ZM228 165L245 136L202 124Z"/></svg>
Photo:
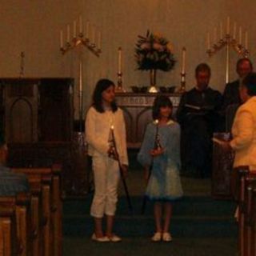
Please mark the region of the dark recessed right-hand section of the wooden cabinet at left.
<svg viewBox="0 0 256 256"><path fill-rule="evenodd" d="M73 127L71 79L40 80L38 87L38 141L70 141Z"/></svg>

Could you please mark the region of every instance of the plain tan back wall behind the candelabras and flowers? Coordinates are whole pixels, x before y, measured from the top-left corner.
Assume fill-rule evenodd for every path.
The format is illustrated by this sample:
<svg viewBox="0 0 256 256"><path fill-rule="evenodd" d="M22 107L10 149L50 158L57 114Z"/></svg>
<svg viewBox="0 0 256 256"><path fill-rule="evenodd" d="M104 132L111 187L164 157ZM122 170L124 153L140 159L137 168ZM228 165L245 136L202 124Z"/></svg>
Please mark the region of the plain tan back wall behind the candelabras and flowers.
<svg viewBox="0 0 256 256"><path fill-rule="evenodd" d="M18 77L20 53L25 53L25 77L74 77L76 117L78 116L78 56L73 50L62 56L59 52L59 31L82 14L102 30L102 54L95 57L82 48L84 62L84 102L90 104L90 95L98 78L117 81L118 46L123 49L123 83L130 86L150 83L146 71L135 70L134 46L138 34L146 30L158 31L174 45L178 60L170 72L158 72L158 86L180 85L182 46L186 46L186 85L194 85L194 68L199 62L208 62L212 68L211 85L223 90L226 74L226 51L223 49L208 58L206 34L214 34L214 26L230 16L233 22L249 32L250 58L254 62L256 2L250 0L0 0L0 77ZM237 28L238 31L238 28ZM230 51L230 80L236 77L234 65L238 58Z"/></svg>

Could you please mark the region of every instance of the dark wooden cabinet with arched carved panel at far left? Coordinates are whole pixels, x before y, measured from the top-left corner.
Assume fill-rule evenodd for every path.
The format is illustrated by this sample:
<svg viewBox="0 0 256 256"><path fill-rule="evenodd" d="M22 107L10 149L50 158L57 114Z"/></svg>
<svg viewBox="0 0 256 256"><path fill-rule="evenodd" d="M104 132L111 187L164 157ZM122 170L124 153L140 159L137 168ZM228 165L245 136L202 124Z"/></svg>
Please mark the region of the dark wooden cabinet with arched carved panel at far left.
<svg viewBox="0 0 256 256"><path fill-rule="evenodd" d="M70 141L73 83L71 78L0 78L6 142Z"/></svg>

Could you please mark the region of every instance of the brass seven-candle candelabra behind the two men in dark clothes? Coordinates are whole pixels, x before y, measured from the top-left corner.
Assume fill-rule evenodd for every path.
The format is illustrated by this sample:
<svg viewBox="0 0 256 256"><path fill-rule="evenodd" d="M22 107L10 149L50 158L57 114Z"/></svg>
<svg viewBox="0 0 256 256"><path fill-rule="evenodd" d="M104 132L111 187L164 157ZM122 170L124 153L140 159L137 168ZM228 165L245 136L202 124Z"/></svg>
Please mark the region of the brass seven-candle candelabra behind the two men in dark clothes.
<svg viewBox="0 0 256 256"><path fill-rule="evenodd" d="M226 35L222 36L222 23L220 24L220 39L217 41L217 29L214 28L214 43L210 45L210 33L207 34L206 44L207 50L206 54L212 57L217 54L219 50L226 47L226 83L229 82L230 76L230 47L243 58L248 58L248 33L245 33L245 46L242 45L242 27L239 27L239 39L236 40L236 23L234 22L234 33L233 36L230 34L230 17L227 18L226 22Z"/></svg>

